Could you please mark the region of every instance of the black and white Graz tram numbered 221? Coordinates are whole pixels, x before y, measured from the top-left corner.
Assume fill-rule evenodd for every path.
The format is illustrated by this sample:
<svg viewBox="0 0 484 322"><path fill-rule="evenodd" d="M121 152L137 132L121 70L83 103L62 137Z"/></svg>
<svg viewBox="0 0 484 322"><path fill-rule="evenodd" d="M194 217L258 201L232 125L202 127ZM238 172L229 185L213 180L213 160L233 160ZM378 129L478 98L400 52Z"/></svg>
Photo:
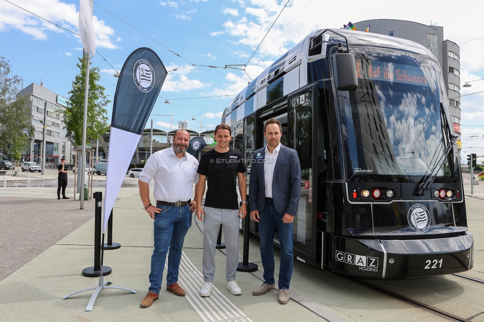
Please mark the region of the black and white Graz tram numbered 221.
<svg viewBox="0 0 484 322"><path fill-rule="evenodd" d="M301 161L298 260L373 279L473 267L446 86L426 48L351 30L309 34L223 112L247 176L270 117Z"/></svg>

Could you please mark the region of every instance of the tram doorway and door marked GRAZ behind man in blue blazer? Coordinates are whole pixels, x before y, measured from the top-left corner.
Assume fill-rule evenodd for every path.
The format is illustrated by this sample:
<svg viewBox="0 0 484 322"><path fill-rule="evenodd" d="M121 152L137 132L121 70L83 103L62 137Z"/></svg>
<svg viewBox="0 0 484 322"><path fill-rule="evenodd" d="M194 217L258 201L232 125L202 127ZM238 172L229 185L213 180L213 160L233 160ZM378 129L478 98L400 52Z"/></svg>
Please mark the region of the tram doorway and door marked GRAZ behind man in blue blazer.
<svg viewBox="0 0 484 322"><path fill-rule="evenodd" d="M313 93L316 93L316 95ZM317 160L317 140L313 140L313 138L318 137L318 115L317 109L313 107L317 106L317 93L313 86L294 92L288 96L287 101L268 109L261 109L257 113L255 121L257 147L267 145L263 136L264 121L273 117L281 122L281 144L298 152L302 182L301 198L294 220L294 255L299 260L312 264L316 263L317 183L315 180L313 182L313 174L318 172L317 162L313 161ZM317 175L314 175L314 178L317 178ZM274 241L279 242L277 231Z"/></svg>

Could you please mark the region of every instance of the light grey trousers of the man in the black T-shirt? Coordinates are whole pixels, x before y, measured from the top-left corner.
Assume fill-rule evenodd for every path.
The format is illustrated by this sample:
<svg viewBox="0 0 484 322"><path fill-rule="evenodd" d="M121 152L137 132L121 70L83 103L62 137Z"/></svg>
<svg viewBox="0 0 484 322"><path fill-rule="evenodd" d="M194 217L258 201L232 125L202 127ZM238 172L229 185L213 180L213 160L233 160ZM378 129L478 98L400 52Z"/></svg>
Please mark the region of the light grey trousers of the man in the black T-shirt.
<svg viewBox="0 0 484 322"><path fill-rule="evenodd" d="M239 265L239 210L203 208L203 280L212 282L215 275L215 246L220 230L220 224L225 237L226 277L228 281L235 280Z"/></svg>

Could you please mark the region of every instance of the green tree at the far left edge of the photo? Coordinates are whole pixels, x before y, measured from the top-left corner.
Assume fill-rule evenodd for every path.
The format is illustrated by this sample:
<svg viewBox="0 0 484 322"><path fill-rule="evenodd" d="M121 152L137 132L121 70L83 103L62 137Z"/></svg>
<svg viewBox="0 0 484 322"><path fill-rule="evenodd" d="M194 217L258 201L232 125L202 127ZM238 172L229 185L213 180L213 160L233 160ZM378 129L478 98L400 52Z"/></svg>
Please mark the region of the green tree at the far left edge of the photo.
<svg viewBox="0 0 484 322"><path fill-rule="evenodd" d="M22 79L10 74L8 60L0 56L0 150L20 160L21 154L34 137L29 99L17 96Z"/></svg>

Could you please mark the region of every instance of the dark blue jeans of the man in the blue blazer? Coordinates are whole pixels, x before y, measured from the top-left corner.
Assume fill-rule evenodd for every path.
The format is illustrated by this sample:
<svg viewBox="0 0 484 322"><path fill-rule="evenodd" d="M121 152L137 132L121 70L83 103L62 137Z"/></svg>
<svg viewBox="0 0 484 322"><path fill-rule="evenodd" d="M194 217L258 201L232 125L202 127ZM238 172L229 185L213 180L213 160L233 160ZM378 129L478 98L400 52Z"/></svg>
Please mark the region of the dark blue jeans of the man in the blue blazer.
<svg viewBox="0 0 484 322"><path fill-rule="evenodd" d="M281 263L279 267L279 289L289 289L293 275L293 223L284 223L284 214L279 214L271 201L265 202L259 211L260 258L264 267L264 283L275 284L274 280L274 233L279 233Z"/></svg>

